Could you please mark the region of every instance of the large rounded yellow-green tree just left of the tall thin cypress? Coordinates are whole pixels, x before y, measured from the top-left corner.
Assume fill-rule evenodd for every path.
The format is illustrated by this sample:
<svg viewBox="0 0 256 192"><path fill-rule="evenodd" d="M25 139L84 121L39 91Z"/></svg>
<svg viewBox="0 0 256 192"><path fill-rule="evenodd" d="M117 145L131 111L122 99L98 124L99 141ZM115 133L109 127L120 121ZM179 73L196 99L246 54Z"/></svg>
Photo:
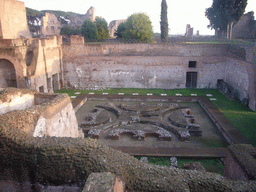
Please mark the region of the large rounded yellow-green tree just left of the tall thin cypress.
<svg viewBox="0 0 256 192"><path fill-rule="evenodd" d="M125 39L136 39L139 42L153 41L153 28L149 17L144 13L135 13L125 22L125 31L122 32Z"/></svg>

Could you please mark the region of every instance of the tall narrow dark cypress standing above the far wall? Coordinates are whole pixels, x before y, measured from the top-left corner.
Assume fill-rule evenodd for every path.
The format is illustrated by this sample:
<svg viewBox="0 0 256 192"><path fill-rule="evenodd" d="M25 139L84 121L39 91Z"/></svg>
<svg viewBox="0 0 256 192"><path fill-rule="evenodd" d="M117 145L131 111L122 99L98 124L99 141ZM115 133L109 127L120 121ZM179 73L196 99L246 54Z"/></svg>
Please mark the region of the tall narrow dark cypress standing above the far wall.
<svg viewBox="0 0 256 192"><path fill-rule="evenodd" d="M164 42L167 42L167 40L168 40L168 18L167 18L166 0L162 0L160 25L161 25L161 39Z"/></svg>

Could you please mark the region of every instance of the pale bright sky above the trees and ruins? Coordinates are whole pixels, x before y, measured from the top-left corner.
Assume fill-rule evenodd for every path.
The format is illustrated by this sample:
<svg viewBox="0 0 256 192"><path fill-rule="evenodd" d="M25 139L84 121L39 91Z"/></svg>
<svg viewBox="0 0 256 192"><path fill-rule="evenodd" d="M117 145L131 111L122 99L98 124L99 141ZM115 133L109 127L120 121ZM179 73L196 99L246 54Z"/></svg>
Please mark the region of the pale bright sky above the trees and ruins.
<svg viewBox="0 0 256 192"><path fill-rule="evenodd" d="M155 33L160 32L160 14L162 0L20 0L25 7L36 10L60 10L85 14L93 6L96 16L101 16L108 23L113 20L127 19L133 13L146 13L153 25ZM166 0L168 5L169 34L184 35L186 25L194 28L194 34L213 35L214 30L207 28L209 20L205 10L211 7L213 0ZM256 16L256 0L248 0L246 13L254 11Z"/></svg>

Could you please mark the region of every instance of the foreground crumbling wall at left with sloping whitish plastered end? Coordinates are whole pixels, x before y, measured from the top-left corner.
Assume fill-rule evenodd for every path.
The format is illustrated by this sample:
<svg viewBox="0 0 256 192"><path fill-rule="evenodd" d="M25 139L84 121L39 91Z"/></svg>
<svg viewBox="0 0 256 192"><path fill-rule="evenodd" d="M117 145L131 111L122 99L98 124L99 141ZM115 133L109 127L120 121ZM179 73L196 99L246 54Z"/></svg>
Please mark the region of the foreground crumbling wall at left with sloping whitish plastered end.
<svg viewBox="0 0 256 192"><path fill-rule="evenodd" d="M50 96L50 97L49 97ZM78 129L75 111L70 98L66 94L44 95L27 89L8 88L0 94L0 115L11 115L13 126L22 124L29 128L30 136L34 137L83 137ZM34 114L32 125L16 121L13 117ZM28 115L28 118L30 116ZM8 122L8 121L7 121ZM6 123L7 123L6 122ZM31 123L31 122L30 122Z"/></svg>

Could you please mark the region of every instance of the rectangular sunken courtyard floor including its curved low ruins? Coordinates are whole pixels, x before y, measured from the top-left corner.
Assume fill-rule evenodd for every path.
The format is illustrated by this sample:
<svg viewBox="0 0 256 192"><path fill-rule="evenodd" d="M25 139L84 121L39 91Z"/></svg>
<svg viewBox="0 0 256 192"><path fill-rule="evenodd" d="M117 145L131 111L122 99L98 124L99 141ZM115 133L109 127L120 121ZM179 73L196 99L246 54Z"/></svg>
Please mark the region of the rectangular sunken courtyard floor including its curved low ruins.
<svg viewBox="0 0 256 192"><path fill-rule="evenodd" d="M85 137L138 156L225 157L248 143L206 97L79 95Z"/></svg>

